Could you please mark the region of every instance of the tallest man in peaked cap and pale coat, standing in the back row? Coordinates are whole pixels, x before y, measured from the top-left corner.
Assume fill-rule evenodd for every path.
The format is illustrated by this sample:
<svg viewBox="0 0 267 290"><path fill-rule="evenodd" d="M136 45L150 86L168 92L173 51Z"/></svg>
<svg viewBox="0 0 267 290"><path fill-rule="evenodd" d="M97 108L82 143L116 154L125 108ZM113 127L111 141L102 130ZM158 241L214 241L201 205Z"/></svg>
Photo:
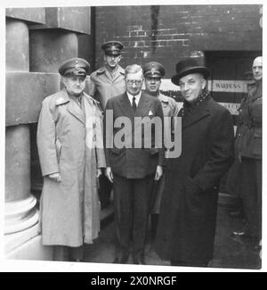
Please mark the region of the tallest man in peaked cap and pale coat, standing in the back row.
<svg viewBox="0 0 267 290"><path fill-rule="evenodd" d="M108 100L125 93L125 70L119 66L123 44L119 41L108 41L102 44L105 64L90 76L89 95L98 100L101 110L104 110ZM112 185L104 175L100 178L101 208L110 203Z"/></svg>

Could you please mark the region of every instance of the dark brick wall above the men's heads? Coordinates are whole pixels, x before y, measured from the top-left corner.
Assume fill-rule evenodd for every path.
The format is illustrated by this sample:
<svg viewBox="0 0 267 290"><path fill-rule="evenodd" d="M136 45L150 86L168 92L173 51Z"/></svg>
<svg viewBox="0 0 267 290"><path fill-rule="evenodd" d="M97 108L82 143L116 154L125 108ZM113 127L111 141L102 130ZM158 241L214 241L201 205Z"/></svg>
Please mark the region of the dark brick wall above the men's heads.
<svg viewBox="0 0 267 290"><path fill-rule="evenodd" d="M150 60L174 74L174 62L205 51L262 50L262 5L109 6L95 9L95 66L102 64L101 43L125 45L122 66Z"/></svg>

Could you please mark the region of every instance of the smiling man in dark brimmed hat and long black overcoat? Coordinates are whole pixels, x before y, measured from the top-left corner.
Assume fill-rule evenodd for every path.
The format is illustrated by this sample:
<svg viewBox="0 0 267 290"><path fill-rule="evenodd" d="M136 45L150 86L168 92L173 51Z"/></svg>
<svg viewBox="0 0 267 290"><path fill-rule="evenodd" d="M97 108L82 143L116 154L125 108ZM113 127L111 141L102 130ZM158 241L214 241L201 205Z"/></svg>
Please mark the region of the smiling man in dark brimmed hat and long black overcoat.
<svg viewBox="0 0 267 290"><path fill-rule="evenodd" d="M182 153L168 159L155 250L172 265L203 266L213 258L220 178L234 160L231 113L206 89L209 71L189 58L172 82L184 99Z"/></svg>

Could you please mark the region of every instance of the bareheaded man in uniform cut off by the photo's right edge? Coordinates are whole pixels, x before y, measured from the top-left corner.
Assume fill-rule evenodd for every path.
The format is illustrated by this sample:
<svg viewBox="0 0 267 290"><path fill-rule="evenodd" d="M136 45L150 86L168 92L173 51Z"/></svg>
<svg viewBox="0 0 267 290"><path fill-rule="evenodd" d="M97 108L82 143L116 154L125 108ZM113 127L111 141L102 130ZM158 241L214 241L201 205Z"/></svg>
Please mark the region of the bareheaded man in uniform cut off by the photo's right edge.
<svg viewBox="0 0 267 290"><path fill-rule="evenodd" d="M240 195L246 224L233 236L250 238L256 245L262 239L262 135L263 135L263 57L252 64L254 83L240 104L236 151L242 171ZM238 180L236 181L238 182Z"/></svg>

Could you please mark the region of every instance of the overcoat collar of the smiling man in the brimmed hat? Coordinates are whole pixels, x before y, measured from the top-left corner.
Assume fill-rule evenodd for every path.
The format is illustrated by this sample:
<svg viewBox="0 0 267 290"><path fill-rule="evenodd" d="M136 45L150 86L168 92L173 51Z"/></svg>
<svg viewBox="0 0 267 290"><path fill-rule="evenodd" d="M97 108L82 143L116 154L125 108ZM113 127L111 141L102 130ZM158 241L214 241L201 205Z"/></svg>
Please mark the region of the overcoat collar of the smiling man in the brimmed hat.
<svg viewBox="0 0 267 290"><path fill-rule="evenodd" d="M197 107L191 112L189 115L182 118L182 129L190 127L192 124L198 122L206 118L210 114L209 111L209 103L211 102L211 98L208 97L206 100L198 104Z"/></svg>

